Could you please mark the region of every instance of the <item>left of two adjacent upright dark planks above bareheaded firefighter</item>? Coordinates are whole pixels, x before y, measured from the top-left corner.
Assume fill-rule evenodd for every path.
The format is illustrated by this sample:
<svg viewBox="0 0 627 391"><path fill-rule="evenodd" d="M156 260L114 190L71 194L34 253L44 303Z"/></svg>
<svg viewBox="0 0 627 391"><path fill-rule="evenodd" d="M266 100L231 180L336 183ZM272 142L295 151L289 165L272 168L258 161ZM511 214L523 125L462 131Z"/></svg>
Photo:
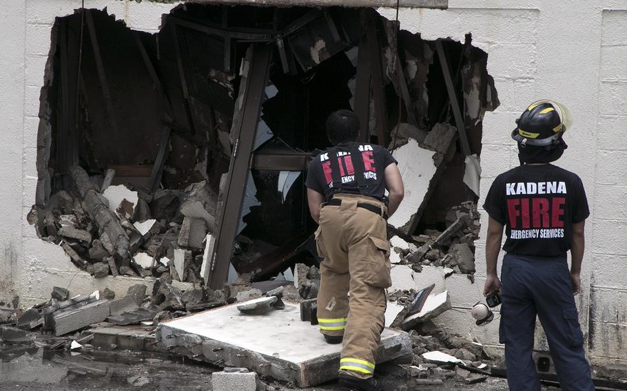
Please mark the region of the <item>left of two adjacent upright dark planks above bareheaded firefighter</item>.
<svg viewBox="0 0 627 391"><path fill-rule="evenodd" d="M359 142L370 142L370 49L365 34L359 40L358 50L353 108L360 123Z"/></svg>

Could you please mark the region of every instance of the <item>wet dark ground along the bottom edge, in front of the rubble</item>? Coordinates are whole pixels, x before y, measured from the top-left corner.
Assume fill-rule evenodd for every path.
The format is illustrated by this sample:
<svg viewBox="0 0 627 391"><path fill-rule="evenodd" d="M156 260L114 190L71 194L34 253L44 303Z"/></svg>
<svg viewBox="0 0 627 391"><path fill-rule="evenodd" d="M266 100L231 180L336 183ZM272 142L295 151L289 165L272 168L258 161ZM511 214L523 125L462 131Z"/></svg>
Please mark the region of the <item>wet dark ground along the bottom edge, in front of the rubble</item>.
<svg viewBox="0 0 627 391"><path fill-rule="evenodd" d="M0 390L203 390L211 391L211 374L218 370L182 357L131 352L44 352L37 345L6 345L0 348ZM385 378L389 390L505 391L504 379L466 385L407 387L407 382ZM267 391L299 388L267 382ZM337 384L308 388L309 391L345 390Z"/></svg>

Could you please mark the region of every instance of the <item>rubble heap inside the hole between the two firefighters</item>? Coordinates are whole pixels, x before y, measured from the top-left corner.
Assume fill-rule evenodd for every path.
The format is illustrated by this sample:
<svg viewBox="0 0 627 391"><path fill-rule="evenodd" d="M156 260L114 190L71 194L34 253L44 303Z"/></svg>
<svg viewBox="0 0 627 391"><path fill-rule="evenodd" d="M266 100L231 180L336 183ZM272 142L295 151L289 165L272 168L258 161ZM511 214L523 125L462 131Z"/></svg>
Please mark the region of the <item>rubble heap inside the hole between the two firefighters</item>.
<svg viewBox="0 0 627 391"><path fill-rule="evenodd" d="M475 240L479 237L480 214L475 202L463 202L446 213L446 229L425 229L410 240L391 237L393 264L409 264L420 272L422 266L442 266L446 273L475 273Z"/></svg>

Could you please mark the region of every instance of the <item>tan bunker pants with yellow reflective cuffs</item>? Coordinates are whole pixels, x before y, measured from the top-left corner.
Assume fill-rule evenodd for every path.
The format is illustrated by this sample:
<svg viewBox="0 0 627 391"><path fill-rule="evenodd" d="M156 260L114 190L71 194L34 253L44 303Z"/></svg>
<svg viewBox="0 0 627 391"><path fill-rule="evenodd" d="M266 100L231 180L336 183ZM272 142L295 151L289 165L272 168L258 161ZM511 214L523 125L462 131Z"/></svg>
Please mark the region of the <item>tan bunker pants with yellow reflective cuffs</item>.
<svg viewBox="0 0 627 391"><path fill-rule="evenodd" d="M344 335L340 372L367 379L374 372L384 327L390 246L384 218L357 204L387 210L382 202L362 195L334 198L342 204L321 209L316 231L318 253L325 258L320 264L318 323L322 334Z"/></svg>

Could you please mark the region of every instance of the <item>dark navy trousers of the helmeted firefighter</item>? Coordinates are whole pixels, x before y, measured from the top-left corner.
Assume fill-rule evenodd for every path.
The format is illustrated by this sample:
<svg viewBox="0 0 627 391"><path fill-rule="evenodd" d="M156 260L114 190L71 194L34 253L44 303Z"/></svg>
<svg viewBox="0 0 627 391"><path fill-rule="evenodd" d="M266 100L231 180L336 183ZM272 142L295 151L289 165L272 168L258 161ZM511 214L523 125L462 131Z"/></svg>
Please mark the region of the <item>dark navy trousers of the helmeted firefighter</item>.
<svg viewBox="0 0 627 391"><path fill-rule="evenodd" d="M592 391L584 355L571 273L566 257L506 254L501 269L500 342L505 344L507 383L511 391L539 391L532 358L536 315L551 349L562 390Z"/></svg>

